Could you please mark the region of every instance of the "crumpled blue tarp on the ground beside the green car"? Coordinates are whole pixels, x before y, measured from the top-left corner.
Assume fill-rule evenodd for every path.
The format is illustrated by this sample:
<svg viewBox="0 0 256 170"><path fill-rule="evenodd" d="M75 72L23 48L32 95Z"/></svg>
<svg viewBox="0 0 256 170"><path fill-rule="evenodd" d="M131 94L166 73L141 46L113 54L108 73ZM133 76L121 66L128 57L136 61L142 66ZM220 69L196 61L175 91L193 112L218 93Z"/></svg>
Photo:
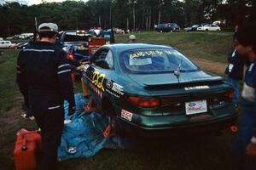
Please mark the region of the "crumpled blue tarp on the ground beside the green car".
<svg viewBox="0 0 256 170"><path fill-rule="evenodd" d="M104 137L102 133L110 122L110 117L99 112L85 112L84 105L88 99L83 94L75 94L76 111L73 116L67 116L68 103L64 103L65 119L61 145L58 150L58 160L90 157L102 148L118 148L119 137ZM70 120L70 121L69 121Z"/></svg>

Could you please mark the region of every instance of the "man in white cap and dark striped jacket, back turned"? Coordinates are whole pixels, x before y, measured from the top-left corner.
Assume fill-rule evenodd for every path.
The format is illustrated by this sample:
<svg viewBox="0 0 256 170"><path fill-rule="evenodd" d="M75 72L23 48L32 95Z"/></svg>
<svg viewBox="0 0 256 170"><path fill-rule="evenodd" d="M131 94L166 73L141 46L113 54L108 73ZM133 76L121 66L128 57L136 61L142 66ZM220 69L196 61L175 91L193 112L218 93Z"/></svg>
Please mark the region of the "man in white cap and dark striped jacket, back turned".
<svg viewBox="0 0 256 170"><path fill-rule="evenodd" d="M17 83L26 107L42 129L43 158L39 169L55 170L64 123L64 99L69 103L69 114L75 109L73 83L66 55L55 45L58 26L44 23L38 27L38 33L40 42L32 42L20 51Z"/></svg>

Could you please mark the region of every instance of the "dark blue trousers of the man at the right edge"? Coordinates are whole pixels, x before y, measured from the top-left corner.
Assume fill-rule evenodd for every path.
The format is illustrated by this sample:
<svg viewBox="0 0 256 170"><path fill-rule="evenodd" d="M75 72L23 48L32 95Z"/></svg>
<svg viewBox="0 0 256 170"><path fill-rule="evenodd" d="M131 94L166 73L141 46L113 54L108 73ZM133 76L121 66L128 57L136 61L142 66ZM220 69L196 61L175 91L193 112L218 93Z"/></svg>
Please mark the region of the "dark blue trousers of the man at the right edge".
<svg viewBox="0 0 256 170"><path fill-rule="evenodd" d="M242 106L244 114L241 120L239 131L232 150L233 170L255 170L256 163L249 161L246 155L247 144L253 137L253 124L256 122L254 105L248 105L249 102L243 99ZM255 126L255 124L254 124Z"/></svg>

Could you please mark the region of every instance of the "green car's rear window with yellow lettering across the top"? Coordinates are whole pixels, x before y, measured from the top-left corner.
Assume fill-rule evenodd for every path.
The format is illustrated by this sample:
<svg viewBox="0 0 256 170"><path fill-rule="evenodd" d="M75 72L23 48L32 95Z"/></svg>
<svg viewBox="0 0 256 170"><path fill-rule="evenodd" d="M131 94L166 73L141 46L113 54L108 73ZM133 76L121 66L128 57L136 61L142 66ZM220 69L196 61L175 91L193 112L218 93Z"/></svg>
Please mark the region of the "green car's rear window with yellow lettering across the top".
<svg viewBox="0 0 256 170"><path fill-rule="evenodd" d="M197 71L189 59L172 48L140 48L121 54L121 66L131 73Z"/></svg>

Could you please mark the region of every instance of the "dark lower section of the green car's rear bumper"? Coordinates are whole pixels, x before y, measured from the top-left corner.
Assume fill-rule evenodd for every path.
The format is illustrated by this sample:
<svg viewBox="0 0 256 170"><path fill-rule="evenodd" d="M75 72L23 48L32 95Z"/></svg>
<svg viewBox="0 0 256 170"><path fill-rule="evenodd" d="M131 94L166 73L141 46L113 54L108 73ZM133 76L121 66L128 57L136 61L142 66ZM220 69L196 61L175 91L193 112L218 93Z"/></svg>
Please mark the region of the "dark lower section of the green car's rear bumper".
<svg viewBox="0 0 256 170"><path fill-rule="evenodd" d="M163 119L165 118L166 117L163 117ZM229 128L237 122L237 111L230 116L222 118L184 124L170 124L168 127L143 127L134 122L128 122L119 116L117 122L120 132L125 135L149 139L170 138L180 135L214 133Z"/></svg>

